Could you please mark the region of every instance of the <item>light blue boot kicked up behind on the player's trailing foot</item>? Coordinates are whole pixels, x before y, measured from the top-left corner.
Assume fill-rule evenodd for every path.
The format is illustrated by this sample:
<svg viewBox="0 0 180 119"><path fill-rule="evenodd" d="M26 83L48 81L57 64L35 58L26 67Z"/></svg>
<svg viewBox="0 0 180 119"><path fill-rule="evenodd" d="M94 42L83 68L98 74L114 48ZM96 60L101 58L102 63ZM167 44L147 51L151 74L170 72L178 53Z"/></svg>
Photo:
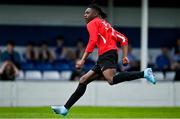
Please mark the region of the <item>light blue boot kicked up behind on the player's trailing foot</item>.
<svg viewBox="0 0 180 119"><path fill-rule="evenodd" d="M156 79L154 78L151 68L147 68L144 70L144 78L146 78L149 82L156 84Z"/></svg>

